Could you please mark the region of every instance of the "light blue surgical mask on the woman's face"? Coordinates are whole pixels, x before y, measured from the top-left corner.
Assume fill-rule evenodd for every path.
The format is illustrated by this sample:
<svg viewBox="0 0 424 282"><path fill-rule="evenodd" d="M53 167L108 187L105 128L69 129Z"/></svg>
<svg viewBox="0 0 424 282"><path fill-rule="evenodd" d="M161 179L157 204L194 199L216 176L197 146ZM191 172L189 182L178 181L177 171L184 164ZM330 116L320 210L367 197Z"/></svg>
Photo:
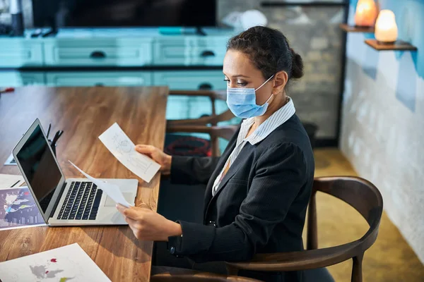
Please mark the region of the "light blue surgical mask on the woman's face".
<svg viewBox="0 0 424 282"><path fill-rule="evenodd" d="M273 78L273 75L271 78ZM271 78L268 78L266 82L269 82ZM262 83L256 90L254 88L227 87L227 105L230 111L232 111L232 114L239 118L252 118L265 114L272 94L269 99L266 100L265 104L259 106L256 104L256 91L264 86L266 82Z"/></svg>

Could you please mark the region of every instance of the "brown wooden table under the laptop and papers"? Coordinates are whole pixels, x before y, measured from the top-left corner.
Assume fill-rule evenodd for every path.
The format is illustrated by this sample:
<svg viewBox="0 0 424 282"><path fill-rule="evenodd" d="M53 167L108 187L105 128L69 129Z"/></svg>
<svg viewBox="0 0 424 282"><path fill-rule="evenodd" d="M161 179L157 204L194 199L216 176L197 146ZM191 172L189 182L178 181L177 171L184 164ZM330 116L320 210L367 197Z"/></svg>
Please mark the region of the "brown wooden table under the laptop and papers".
<svg viewBox="0 0 424 282"><path fill-rule="evenodd" d="M167 87L25 87L0 97L0 173L25 130L40 118L52 133L64 130L57 157L66 177L79 177L68 163L97 178L138 178L117 161L98 136L117 122L134 143L163 148ZM139 179L136 204L156 210L160 175ZM0 231L0 262L78 243L112 281L148 281L153 243L137 240L128 226L34 227Z"/></svg>

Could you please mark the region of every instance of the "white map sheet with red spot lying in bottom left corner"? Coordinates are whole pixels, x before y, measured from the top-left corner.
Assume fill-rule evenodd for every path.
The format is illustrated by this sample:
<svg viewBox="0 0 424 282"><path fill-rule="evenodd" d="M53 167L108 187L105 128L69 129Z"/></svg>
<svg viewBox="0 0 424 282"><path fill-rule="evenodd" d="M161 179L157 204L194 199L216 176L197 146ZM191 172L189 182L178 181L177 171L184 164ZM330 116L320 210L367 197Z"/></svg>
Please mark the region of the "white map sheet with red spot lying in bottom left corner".
<svg viewBox="0 0 424 282"><path fill-rule="evenodd" d="M0 263L1 282L110 281L77 244Z"/></svg>

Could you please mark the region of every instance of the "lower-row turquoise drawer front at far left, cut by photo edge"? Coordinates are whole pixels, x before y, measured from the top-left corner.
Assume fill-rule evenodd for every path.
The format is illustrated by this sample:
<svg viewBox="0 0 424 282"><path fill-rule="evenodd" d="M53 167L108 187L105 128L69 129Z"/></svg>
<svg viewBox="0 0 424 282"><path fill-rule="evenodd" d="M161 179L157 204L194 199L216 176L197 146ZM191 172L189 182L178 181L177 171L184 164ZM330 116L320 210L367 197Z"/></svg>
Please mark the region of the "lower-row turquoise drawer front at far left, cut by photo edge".
<svg viewBox="0 0 424 282"><path fill-rule="evenodd" d="M44 84L45 75L42 72L0 71L0 87Z"/></svg>

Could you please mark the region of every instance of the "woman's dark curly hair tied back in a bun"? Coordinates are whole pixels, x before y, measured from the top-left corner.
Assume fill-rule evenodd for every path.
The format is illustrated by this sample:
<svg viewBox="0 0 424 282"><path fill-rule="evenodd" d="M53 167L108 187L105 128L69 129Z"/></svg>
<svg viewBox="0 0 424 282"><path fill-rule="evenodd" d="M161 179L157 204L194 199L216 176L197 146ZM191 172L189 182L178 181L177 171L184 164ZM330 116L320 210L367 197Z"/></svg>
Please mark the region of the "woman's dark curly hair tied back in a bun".
<svg viewBox="0 0 424 282"><path fill-rule="evenodd" d="M283 33L270 27L255 26L232 37L227 50L242 51L249 56L264 78L285 71L290 78L302 78L302 57L293 51Z"/></svg>

